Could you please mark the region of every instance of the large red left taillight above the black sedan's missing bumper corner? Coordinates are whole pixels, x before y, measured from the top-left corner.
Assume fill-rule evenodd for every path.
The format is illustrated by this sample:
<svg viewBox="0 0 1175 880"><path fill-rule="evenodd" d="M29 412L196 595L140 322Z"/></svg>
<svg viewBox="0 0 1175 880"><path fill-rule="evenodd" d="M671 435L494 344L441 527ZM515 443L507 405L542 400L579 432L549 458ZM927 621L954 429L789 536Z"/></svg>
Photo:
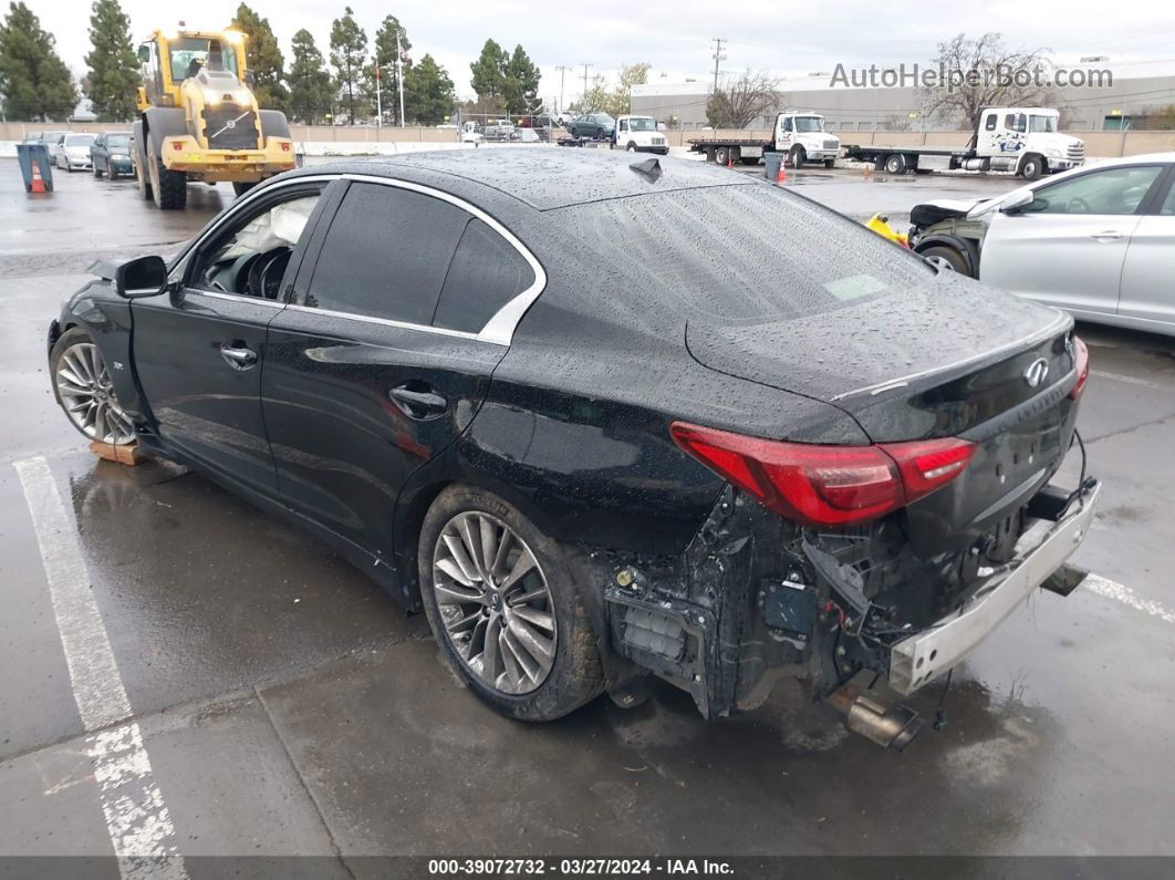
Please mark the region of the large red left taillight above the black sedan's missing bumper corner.
<svg viewBox="0 0 1175 880"><path fill-rule="evenodd" d="M826 446L674 422L673 441L764 506L805 525L877 519L962 473L975 444L945 439Z"/></svg>

